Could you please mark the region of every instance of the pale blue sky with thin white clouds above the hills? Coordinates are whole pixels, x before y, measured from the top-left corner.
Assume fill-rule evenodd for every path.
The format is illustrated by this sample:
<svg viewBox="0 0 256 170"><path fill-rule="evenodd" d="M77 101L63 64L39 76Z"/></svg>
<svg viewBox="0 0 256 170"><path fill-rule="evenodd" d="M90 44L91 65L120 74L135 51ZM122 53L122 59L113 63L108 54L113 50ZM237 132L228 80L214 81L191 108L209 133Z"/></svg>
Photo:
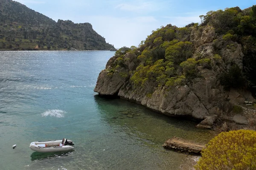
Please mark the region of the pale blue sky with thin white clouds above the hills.
<svg viewBox="0 0 256 170"><path fill-rule="evenodd" d="M138 46L152 30L199 23L208 11L256 5L256 0L15 0L55 21L91 23L116 48Z"/></svg>

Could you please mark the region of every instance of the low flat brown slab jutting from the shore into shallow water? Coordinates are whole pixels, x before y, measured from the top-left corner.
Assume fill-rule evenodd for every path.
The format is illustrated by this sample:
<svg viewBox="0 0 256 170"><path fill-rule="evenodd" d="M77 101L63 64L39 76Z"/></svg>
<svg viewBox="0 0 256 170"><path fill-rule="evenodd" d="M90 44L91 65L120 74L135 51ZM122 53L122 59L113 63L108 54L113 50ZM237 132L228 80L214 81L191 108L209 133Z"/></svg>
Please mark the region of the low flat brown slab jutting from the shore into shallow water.
<svg viewBox="0 0 256 170"><path fill-rule="evenodd" d="M205 144L198 144L195 142L189 142L182 138L173 137L172 139L168 139L163 147L172 150L180 150L181 152L189 152L189 153L201 153L202 149L206 146Z"/></svg>

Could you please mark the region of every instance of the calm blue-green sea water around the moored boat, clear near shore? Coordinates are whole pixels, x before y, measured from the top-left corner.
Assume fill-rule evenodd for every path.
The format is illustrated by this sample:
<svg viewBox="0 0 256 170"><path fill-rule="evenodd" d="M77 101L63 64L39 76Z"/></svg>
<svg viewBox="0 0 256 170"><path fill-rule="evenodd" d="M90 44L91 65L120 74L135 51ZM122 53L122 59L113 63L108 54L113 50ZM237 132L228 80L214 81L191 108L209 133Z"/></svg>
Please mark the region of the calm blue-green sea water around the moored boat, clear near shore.
<svg viewBox="0 0 256 170"><path fill-rule="evenodd" d="M206 142L211 131L135 103L97 96L97 77L113 54L0 52L1 170L191 169L198 156L165 150L162 144L173 136ZM73 140L75 150L29 149L30 142L62 138Z"/></svg>

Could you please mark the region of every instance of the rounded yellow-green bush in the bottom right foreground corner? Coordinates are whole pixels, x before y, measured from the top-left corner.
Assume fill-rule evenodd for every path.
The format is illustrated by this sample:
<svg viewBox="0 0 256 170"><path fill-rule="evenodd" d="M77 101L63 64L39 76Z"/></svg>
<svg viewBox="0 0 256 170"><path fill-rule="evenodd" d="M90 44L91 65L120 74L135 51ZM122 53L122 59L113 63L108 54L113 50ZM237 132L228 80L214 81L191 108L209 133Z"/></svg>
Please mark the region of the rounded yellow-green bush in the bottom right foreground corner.
<svg viewBox="0 0 256 170"><path fill-rule="evenodd" d="M202 150L196 170L255 170L256 131L222 132Z"/></svg>

